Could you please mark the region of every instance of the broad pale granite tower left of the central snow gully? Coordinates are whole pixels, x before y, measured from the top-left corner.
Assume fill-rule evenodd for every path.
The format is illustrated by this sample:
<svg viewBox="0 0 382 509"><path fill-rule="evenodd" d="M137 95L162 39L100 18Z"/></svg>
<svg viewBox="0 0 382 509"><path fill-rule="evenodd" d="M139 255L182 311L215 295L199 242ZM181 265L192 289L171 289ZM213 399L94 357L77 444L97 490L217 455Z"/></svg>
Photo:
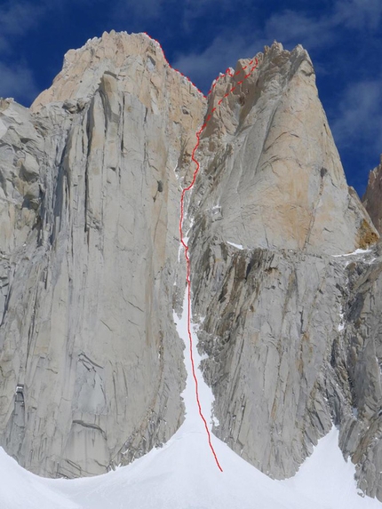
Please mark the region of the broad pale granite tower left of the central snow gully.
<svg viewBox="0 0 382 509"><path fill-rule="evenodd" d="M203 107L125 34L69 52L30 111L2 102L0 443L35 473L106 472L184 418L172 299Z"/></svg>

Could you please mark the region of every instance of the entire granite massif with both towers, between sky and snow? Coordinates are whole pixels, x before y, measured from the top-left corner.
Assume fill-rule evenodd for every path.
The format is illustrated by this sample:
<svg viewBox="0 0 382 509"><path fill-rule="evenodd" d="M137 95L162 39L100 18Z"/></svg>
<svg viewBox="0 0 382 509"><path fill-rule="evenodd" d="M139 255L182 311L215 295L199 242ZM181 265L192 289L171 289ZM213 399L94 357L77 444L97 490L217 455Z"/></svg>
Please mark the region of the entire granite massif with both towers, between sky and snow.
<svg viewBox="0 0 382 509"><path fill-rule="evenodd" d="M104 34L67 53L30 110L2 100L0 444L29 470L102 473L182 422L180 192L195 131L235 86L186 203L214 432L284 478L334 422L382 499L380 246L335 256L378 232L346 185L305 50L257 59L207 104L147 36Z"/></svg>

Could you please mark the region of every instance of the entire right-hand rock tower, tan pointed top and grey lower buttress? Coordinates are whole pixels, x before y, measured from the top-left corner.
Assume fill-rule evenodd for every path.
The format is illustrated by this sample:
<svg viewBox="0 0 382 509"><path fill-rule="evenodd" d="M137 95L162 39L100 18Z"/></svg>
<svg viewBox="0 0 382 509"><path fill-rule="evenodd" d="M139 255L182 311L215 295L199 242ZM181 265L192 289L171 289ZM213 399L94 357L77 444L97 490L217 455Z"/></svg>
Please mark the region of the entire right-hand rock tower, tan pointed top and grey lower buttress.
<svg viewBox="0 0 382 509"><path fill-rule="evenodd" d="M274 44L257 59L244 84L240 71L249 60L239 60L230 73L237 77L220 79L211 93L209 112L235 87L203 132L203 172L189 205L193 310L215 395L214 431L283 479L333 422L347 430L359 409L358 442L351 449L344 438L342 446L362 488L381 497L378 451L366 457L362 441L375 412L361 410L374 410L380 377L375 357L352 355L354 341L362 351L369 339L365 330L357 340L344 332L354 297L341 260L353 258L338 257L373 245L378 233L346 185L307 53ZM362 401L354 401L336 362L345 362L346 373L362 370L361 362L364 377L374 373ZM360 391L367 385L352 379Z"/></svg>

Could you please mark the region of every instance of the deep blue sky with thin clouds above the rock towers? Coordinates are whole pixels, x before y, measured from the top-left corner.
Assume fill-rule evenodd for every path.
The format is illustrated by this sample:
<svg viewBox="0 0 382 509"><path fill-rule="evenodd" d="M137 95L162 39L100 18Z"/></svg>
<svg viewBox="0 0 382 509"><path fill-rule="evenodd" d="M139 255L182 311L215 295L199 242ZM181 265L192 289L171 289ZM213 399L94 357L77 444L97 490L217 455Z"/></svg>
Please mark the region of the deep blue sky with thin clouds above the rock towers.
<svg viewBox="0 0 382 509"><path fill-rule="evenodd" d="M0 96L28 106L63 55L103 31L147 32L204 92L274 40L303 44L349 185L382 152L382 0L0 0Z"/></svg>

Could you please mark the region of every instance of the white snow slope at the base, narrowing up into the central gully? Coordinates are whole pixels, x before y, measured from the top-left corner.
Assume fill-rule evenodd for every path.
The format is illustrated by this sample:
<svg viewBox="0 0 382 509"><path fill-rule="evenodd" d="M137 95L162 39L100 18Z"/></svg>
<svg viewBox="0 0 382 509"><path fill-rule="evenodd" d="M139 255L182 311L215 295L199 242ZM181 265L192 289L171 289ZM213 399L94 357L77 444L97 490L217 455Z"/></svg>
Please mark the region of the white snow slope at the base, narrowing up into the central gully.
<svg viewBox="0 0 382 509"><path fill-rule="evenodd" d="M342 457L334 427L286 481L269 479L212 435L221 473L195 403L186 313L174 320L187 345L188 378L186 420L171 440L115 472L73 481L37 477L0 449L0 509L382 509L377 500L357 495L354 465ZM198 365L196 348L194 357ZM198 383L210 422L211 390L200 373Z"/></svg>

